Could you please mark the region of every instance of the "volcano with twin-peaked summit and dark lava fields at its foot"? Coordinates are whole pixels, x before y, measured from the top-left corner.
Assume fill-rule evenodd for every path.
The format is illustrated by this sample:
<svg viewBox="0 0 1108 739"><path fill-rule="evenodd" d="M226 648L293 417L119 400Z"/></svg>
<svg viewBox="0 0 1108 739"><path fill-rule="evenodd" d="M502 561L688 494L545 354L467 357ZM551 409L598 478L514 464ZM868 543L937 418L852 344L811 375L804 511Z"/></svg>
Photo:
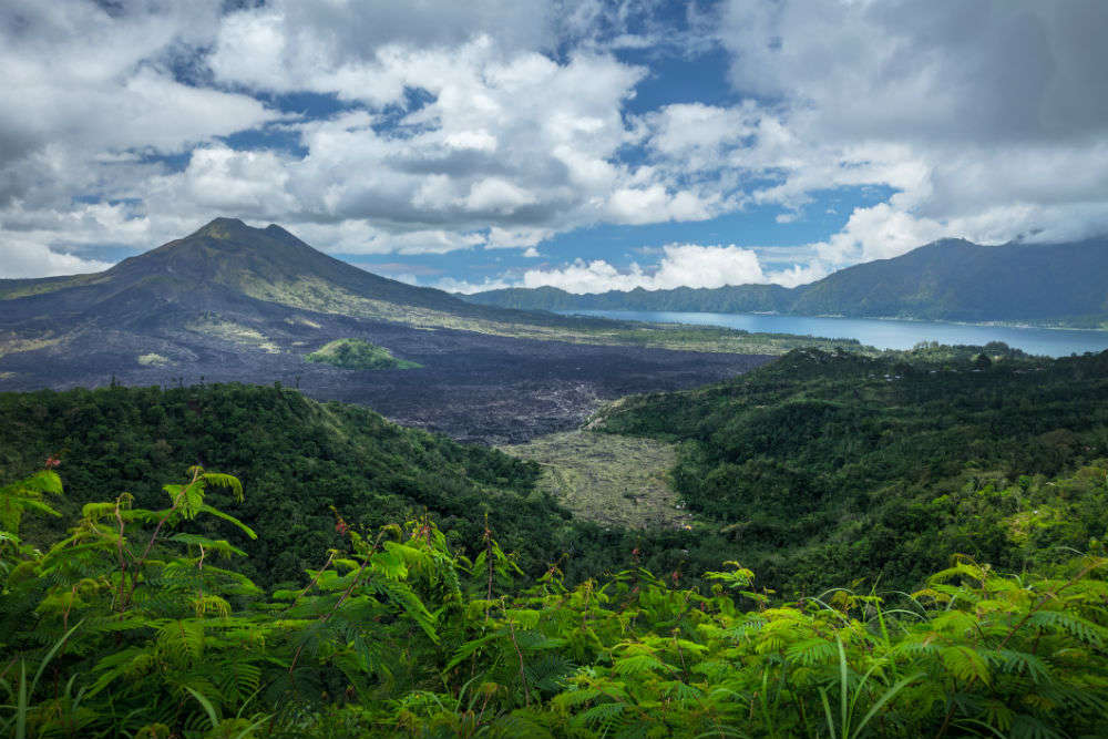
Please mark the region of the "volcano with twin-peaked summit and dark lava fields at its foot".
<svg viewBox="0 0 1108 739"><path fill-rule="evenodd" d="M599 346L650 330L468 304L367 273L279 226L217 218L104 273L0 280L0 389L277 381L504 443L572 428L606 399L711 382L767 359ZM305 360L337 339L423 367Z"/></svg>

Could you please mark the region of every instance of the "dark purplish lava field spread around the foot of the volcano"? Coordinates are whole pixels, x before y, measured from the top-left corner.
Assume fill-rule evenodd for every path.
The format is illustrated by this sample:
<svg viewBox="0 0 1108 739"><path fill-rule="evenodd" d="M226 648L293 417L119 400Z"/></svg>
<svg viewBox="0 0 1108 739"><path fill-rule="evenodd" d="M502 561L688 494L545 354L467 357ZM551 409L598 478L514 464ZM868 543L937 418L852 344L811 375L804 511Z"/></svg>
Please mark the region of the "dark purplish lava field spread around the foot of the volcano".
<svg viewBox="0 0 1108 739"><path fill-rule="evenodd" d="M123 384L280 382L319 400L360 403L406 425L488 444L517 443L576 428L599 403L636 392L716 382L772 359L532 341L449 329L420 330L319 314L320 328L263 327L278 353L188 331L158 340L90 329L64 351L47 347L0 357L0 390ZM267 330L268 329L268 330ZM280 332L284 331L281 336ZM335 337L361 338L421 365L409 370L343 370L304 360ZM299 346L298 346L299 342ZM163 353L164 352L164 353ZM164 367L137 357L163 353Z"/></svg>

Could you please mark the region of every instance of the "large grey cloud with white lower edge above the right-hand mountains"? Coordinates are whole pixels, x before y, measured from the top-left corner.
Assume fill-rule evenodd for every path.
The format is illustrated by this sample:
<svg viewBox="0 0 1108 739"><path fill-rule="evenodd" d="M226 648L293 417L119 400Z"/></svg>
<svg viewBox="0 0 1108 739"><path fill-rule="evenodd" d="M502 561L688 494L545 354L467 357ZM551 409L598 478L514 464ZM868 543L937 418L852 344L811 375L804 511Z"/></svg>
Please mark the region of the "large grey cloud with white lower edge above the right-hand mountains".
<svg viewBox="0 0 1108 739"><path fill-rule="evenodd" d="M755 202L799 209L829 186L897 191L814 245L823 258L895 256L942 236L1104 233L1108 48L1095 38L1108 6L731 0L716 20L735 90L779 101L755 124L771 123L776 144L758 132L735 153L781 163Z"/></svg>

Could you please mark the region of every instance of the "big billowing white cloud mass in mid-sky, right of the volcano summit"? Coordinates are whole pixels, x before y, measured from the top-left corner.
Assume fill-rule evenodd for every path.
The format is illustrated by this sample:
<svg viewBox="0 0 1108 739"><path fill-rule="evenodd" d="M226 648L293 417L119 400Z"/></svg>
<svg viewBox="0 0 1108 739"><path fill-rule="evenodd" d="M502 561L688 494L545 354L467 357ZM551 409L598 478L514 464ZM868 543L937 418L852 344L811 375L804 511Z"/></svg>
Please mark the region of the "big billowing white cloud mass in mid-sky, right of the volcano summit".
<svg viewBox="0 0 1108 739"><path fill-rule="evenodd" d="M326 45L328 37L298 33L288 13L244 12L264 16L258 32L267 48L294 44L298 54L329 59L322 50L304 51ZM227 22L245 22L239 16ZM270 39L274 33L284 41ZM249 55L248 45L239 53ZM398 235L398 248L412 230L442 229L482 232L492 248L526 249L595 223L702 219L724 209L708 186L683 185L669 171L619 160L619 151L643 136L640 126L625 120L623 105L644 68L592 51L555 61L488 35L451 48L392 42L359 49L360 57L351 51L341 64L311 68L317 76L310 82L296 76L283 84L335 93L363 109L286 126L299 135L304 156L278 161L220 152L213 174L225 181L222 191L197 188L196 178L215 157L197 150L176 184L166 184L173 202L197 205L199 192L226 192L226 206L244 215L330 223L336 232L347 220L371 219ZM278 66L283 74L299 74L295 63ZM409 104L412 90L428 96L424 103ZM261 173L266 163L273 176ZM266 197L256 204L242 197L259 188Z"/></svg>

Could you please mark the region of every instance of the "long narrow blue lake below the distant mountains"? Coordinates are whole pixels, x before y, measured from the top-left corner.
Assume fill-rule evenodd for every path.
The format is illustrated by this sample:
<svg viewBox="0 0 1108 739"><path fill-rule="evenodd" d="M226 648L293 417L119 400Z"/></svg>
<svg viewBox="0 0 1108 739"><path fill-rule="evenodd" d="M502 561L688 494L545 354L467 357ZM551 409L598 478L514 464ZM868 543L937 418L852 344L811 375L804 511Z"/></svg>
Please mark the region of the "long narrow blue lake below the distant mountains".
<svg viewBox="0 0 1108 739"><path fill-rule="evenodd" d="M858 339L879 349L911 349L921 341L981 346L1004 341L1032 355L1066 357L1108 349L1108 331L1085 329L981 326L880 318L815 318L759 314L687 314L646 310L563 310L566 315L601 316L659 324L726 326L763 333L799 333Z"/></svg>

